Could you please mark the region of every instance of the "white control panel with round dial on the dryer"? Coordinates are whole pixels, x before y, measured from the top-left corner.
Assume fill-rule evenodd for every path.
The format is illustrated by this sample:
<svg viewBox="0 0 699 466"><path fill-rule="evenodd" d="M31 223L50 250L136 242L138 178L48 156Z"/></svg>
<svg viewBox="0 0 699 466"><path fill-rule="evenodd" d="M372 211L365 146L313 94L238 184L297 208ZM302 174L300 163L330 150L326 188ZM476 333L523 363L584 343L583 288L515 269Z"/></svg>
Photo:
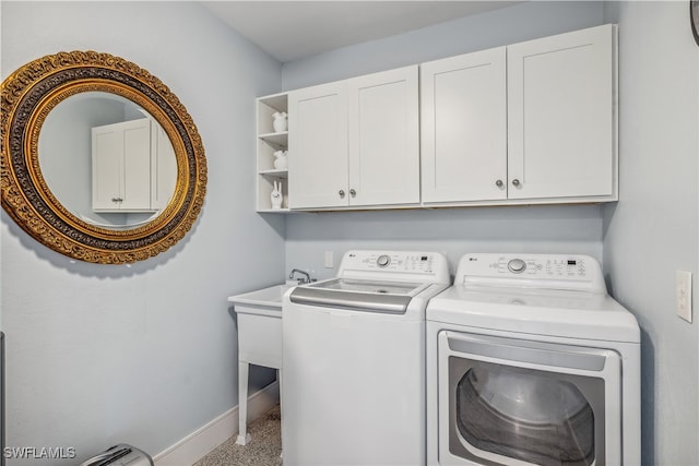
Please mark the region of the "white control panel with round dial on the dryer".
<svg viewBox="0 0 699 466"><path fill-rule="evenodd" d="M600 263L574 254L466 254L454 283L606 292Z"/></svg>

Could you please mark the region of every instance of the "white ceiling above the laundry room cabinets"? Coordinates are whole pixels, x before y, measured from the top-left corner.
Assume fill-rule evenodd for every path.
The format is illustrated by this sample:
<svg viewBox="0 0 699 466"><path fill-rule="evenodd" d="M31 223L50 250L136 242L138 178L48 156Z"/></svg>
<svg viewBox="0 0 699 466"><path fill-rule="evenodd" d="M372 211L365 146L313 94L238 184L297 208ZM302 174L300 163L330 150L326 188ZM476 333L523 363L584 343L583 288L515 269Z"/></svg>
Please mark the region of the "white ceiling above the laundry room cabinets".
<svg viewBox="0 0 699 466"><path fill-rule="evenodd" d="M281 62L418 29L518 1L203 1Z"/></svg>

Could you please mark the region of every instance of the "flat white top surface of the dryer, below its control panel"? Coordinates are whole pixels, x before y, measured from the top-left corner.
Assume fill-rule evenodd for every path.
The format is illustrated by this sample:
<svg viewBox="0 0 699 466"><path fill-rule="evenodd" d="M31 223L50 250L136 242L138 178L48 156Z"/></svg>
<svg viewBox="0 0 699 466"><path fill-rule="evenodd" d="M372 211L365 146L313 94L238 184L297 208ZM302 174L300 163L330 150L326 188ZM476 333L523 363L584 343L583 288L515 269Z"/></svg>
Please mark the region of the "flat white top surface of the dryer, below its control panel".
<svg viewBox="0 0 699 466"><path fill-rule="evenodd" d="M426 319L532 335L640 342L636 318L601 292L454 285L430 299Z"/></svg>

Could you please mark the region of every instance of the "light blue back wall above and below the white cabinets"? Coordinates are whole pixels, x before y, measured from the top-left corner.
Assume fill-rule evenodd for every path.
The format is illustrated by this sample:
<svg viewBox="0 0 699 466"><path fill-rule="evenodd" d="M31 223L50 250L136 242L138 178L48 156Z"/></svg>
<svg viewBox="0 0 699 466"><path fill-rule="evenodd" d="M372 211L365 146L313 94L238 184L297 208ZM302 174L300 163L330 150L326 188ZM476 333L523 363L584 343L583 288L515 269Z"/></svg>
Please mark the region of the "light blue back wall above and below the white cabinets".
<svg viewBox="0 0 699 466"><path fill-rule="evenodd" d="M603 13L600 2L525 2L285 63L284 87L595 26ZM301 214L286 220L287 270L332 276L352 248L436 250L454 264L478 251L576 252L602 260L602 214L596 205L574 205ZM334 254L333 268L324 267L325 251Z"/></svg>

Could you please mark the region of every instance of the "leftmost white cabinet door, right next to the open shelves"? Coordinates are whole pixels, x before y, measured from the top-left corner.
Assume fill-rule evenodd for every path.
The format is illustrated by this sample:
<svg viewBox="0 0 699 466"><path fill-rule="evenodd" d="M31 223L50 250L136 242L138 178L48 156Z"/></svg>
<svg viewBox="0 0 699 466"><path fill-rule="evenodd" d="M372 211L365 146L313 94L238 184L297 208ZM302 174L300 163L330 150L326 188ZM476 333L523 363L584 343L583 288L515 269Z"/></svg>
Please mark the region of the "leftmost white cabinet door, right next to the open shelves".
<svg viewBox="0 0 699 466"><path fill-rule="evenodd" d="M347 205L346 82L291 92L288 109L289 207Z"/></svg>

